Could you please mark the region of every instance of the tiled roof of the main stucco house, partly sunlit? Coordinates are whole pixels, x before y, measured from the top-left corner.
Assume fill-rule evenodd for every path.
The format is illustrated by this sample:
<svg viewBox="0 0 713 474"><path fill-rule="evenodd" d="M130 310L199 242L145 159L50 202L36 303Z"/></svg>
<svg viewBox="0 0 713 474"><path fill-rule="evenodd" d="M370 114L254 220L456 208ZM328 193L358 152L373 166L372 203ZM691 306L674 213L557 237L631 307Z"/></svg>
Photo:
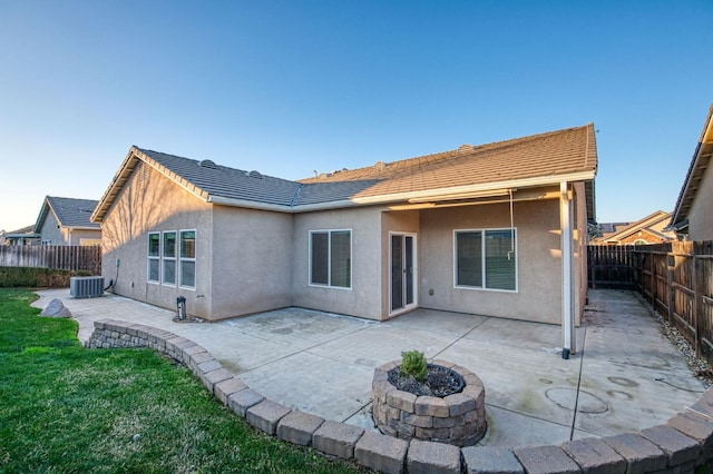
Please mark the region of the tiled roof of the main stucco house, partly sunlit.
<svg viewBox="0 0 713 474"><path fill-rule="evenodd" d="M594 216L596 140L592 124L489 145L290 181L131 147L92 220L101 221L137 165L143 161L205 201L282 211L408 201L420 196L586 181Z"/></svg>

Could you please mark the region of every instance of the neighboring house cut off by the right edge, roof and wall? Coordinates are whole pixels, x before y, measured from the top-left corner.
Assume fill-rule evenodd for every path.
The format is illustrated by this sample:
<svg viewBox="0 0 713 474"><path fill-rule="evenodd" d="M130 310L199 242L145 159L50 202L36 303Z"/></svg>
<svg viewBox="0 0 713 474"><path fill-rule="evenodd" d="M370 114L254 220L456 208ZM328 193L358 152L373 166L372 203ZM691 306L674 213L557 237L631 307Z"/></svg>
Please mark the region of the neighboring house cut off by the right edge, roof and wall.
<svg viewBox="0 0 713 474"><path fill-rule="evenodd" d="M703 124L686 179L671 218L671 227L687 240L713 240L713 106Z"/></svg>

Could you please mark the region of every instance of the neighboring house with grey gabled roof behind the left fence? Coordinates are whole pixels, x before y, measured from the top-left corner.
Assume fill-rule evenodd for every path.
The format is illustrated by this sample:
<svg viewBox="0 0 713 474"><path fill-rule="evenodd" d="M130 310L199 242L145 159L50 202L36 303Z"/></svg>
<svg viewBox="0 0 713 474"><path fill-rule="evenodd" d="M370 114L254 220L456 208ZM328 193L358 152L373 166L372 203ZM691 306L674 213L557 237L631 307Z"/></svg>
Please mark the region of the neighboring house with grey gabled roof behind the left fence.
<svg viewBox="0 0 713 474"><path fill-rule="evenodd" d="M101 245L101 227L89 220L96 200L47 196L35 224L42 245Z"/></svg>

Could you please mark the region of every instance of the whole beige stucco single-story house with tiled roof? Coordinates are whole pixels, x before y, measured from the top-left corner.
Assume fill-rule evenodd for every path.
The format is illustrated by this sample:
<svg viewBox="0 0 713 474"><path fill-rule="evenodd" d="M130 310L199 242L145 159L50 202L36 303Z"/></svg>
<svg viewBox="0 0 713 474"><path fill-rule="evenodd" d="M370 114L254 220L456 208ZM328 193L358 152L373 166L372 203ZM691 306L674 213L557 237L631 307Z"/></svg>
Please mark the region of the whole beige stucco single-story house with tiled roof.
<svg viewBox="0 0 713 474"><path fill-rule="evenodd" d="M115 293L208 320L424 307L572 328L596 168L592 124L299 182L131 147L91 220Z"/></svg>

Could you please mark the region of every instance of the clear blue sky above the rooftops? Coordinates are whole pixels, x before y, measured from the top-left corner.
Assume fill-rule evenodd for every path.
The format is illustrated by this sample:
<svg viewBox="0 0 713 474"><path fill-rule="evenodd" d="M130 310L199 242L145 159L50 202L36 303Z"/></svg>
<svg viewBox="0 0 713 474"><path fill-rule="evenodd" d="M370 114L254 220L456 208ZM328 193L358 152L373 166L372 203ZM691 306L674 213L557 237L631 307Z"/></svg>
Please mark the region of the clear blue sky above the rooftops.
<svg viewBox="0 0 713 474"><path fill-rule="evenodd" d="M0 229L131 145L286 179L594 122L597 218L672 210L713 1L0 0Z"/></svg>

